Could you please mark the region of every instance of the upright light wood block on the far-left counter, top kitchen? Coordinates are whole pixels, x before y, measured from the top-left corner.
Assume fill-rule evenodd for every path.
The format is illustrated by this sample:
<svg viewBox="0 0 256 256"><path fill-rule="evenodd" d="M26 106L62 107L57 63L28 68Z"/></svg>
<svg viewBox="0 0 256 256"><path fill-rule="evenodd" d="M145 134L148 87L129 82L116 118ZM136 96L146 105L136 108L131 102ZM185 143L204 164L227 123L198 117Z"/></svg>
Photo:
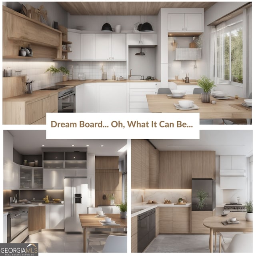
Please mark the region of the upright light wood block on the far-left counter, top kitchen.
<svg viewBox="0 0 256 256"><path fill-rule="evenodd" d="M3 99L23 95L26 87L26 76L3 77Z"/></svg>

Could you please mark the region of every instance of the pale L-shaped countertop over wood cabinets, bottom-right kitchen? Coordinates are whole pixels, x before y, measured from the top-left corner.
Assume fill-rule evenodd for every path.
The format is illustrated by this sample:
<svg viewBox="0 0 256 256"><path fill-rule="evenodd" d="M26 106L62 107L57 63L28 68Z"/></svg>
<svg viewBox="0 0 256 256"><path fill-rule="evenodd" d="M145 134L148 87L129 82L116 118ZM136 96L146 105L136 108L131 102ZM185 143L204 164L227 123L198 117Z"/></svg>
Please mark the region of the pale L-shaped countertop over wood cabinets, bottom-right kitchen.
<svg viewBox="0 0 256 256"><path fill-rule="evenodd" d="M135 211L136 209L140 209L138 212L134 212L131 214L131 217L137 216L138 214L142 214L144 212L147 212L148 210L152 210L156 207L191 207L192 204L190 202L186 204L164 204L163 202L159 202L156 204L146 204L146 203L138 203L132 205L132 211Z"/></svg>

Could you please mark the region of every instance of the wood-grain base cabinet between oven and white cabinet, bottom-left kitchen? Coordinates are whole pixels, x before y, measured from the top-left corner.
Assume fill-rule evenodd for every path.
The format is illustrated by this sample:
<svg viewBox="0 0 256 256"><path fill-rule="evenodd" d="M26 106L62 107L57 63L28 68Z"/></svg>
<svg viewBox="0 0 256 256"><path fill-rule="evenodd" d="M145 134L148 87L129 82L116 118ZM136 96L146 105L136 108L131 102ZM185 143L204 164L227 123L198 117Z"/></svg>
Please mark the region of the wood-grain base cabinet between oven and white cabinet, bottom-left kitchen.
<svg viewBox="0 0 256 256"><path fill-rule="evenodd" d="M45 228L45 206L28 208L28 231Z"/></svg>

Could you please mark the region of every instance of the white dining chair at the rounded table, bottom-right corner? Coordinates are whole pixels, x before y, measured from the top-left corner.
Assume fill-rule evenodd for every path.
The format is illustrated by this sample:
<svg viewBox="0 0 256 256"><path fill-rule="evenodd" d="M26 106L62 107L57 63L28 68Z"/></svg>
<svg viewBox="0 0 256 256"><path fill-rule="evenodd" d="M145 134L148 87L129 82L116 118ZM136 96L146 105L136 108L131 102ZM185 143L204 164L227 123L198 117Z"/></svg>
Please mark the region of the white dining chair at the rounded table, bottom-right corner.
<svg viewBox="0 0 256 256"><path fill-rule="evenodd" d="M233 238L225 237L226 232L220 232L220 252L252 252L252 232L236 233Z"/></svg>

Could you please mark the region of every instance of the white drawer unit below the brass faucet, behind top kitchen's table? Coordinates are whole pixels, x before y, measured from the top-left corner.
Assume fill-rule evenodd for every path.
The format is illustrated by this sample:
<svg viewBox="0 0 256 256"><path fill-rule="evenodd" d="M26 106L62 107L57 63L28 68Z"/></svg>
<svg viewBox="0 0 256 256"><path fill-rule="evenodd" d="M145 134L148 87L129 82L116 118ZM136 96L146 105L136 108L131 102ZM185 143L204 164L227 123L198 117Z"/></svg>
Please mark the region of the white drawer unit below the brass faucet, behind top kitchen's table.
<svg viewBox="0 0 256 256"><path fill-rule="evenodd" d="M156 94L159 86L159 82L129 83L130 112L149 112L146 94Z"/></svg>

